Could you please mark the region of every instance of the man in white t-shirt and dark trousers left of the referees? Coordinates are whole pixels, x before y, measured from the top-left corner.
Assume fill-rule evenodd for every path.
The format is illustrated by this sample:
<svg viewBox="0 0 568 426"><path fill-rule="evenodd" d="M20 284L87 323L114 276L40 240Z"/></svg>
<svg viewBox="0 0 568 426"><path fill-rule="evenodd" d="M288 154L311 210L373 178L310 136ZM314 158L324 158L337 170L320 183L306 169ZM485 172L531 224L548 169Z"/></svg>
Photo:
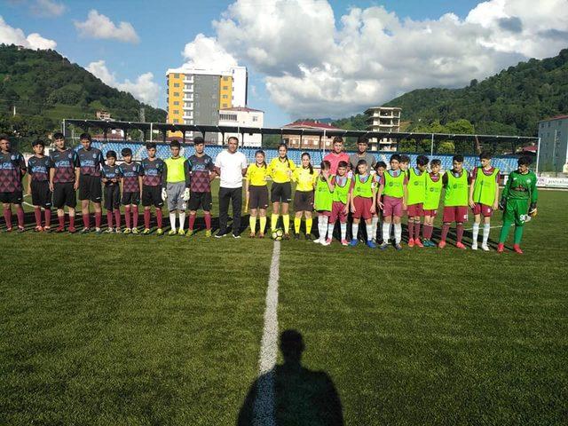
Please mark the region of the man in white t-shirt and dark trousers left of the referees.
<svg viewBox="0 0 568 426"><path fill-rule="evenodd" d="M227 149L217 155L215 170L221 177L219 187L219 232L217 238L225 237L229 230L229 201L233 201L233 238L241 238L242 177L247 173L247 157L237 151L239 139L227 139Z"/></svg>

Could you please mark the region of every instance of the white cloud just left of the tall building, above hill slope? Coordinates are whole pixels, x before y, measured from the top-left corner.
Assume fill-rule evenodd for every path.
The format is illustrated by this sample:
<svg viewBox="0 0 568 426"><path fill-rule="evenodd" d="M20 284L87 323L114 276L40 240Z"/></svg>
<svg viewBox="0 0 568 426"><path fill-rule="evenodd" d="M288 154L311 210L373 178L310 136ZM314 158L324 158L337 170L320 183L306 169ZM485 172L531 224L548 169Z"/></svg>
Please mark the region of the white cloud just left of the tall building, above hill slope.
<svg viewBox="0 0 568 426"><path fill-rule="evenodd" d="M136 81L131 82L129 79L122 83L116 80L114 73L111 73L106 67L104 60L91 62L86 68L92 75L99 77L103 83L112 86L119 91L128 91L134 98L144 102L145 104L157 106L160 98L160 86L154 82L154 74L144 73L138 75Z"/></svg>

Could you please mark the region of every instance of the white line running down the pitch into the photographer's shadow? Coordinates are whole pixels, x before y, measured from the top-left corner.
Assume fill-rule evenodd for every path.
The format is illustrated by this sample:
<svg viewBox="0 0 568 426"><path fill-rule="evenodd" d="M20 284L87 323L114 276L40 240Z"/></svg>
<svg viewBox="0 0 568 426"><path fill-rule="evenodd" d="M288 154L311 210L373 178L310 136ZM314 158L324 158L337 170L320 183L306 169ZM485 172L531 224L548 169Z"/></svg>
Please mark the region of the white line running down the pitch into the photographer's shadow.
<svg viewBox="0 0 568 426"><path fill-rule="evenodd" d="M258 360L258 382L253 405L253 424L274 426L274 367L278 355L278 279L280 275L280 241L274 241L270 277L266 289L263 339Z"/></svg>

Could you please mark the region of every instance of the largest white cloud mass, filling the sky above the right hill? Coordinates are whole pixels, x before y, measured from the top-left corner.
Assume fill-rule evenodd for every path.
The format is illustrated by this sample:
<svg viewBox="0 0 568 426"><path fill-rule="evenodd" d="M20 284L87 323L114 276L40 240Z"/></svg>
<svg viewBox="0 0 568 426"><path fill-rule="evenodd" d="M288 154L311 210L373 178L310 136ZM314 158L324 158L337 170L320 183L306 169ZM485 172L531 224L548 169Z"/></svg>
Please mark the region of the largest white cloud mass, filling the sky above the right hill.
<svg viewBox="0 0 568 426"><path fill-rule="evenodd" d="M213 22L215 36L196 37L185 57L238 60L264 76L272 101L292 116L344 116L554 56L568 44L565 6L490 0L463 20L401 20L383 6L353 7L336 19L327 0L238 0Z"/></svg>

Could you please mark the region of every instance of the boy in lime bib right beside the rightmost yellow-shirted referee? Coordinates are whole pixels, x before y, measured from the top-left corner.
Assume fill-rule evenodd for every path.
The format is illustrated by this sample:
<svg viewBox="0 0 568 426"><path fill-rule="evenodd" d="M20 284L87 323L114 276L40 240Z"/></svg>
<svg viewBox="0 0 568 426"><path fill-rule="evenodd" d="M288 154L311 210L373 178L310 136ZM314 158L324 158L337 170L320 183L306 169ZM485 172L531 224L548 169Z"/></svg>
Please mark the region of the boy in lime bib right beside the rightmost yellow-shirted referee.
<svg viewBox="0 0 568 426"><path fill-rule="evenodd" d="M339 163L337 164L339 168ZM327 160L321 162L319 169L319 177L316 180L314 208L318 212L318 232L319 236L314 242L319 242L322 246L331 244L334 236L334 230L326 236L329 231L329 217L333 208L333 191L334 185L331 183L331 163Z"/></svg>

